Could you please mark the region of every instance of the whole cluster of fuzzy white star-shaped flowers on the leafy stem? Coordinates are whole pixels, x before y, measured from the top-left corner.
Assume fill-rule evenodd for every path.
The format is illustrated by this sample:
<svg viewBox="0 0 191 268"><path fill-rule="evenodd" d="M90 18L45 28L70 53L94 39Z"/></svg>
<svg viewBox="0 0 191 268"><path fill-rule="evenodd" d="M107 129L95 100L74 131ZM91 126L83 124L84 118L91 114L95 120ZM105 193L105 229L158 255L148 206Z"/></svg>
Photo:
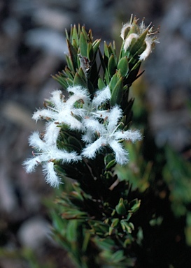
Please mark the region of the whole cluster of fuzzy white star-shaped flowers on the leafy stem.
<svg viewBox="0 0 191 268"><path fill-rule="evenodd" d="M62 91L53 91L45 107L34 112L34 120L47 121L45 133L35 132L29 137L29 145L36 153L33 153L33 158L24 161L27 172L34 171L36 166L41 164L45 179L51 186L58 186L61 182L55 172L55 163L74 163L83 161L83 158L92 159L102 148L110 147L115 154L116 163L124 165L128 162L128 152L121 142L141 140L139 131L122 131L120 120L123 114L118 105L110 110L106 109L106 103L111 99L108 86L98 90L92 99L87 89L80 86L69 87L67 91L67 99ZM63 126L80 133L80 142L83 144L80 153L57 146Z"/></svg>

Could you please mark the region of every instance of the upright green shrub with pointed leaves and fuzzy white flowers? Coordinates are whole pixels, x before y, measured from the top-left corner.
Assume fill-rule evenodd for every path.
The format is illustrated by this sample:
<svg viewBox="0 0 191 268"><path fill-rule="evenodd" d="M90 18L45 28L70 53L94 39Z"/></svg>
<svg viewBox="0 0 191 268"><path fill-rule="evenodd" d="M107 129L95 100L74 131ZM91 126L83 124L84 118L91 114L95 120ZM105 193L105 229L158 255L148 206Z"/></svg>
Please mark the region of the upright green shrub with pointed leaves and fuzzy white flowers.
<svg viewBox="0 0 191 268"><path fill-rule="evenodd" d="M67 65L53 76L63 89L33 114L46 121L45 131L29 137L35 152L24 167L32 172L42 165L45 180L59 186L51 209L54 236L76 267L181 267L171 255L166 261L155 252L162 243L154 240L169 230L161 209L176 219L167 182L157 179L162 162L144 158L149 145L132 124L129 98L142 62L158 43L156 34L132 16L122 26L118 55L115 42L104 43L101 53L91 30L72 26L66 31Z"/></svg>

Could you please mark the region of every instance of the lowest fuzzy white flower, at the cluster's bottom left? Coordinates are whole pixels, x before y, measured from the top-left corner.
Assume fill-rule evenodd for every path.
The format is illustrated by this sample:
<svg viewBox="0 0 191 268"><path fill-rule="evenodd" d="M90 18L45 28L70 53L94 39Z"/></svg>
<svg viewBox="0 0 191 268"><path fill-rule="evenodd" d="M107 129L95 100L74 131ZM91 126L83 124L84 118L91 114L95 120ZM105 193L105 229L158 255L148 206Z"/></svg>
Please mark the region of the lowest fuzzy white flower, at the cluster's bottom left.
<svg viewBox="0 0 191 268"><path fill-rule="evenodd" d="M53 161L60 161L61 163L71 163L79 161L80 156L76 152L68 152L58 149L56 144L48 144L39 137L39 133L34 132L29 137L29 145L34 147L38 153L34 153L33 158L29 158L24 161L23 165L27 173L31 173L38 165L43 166L43 173L45 174L45 180L53 187L60 184L60 179L54 169Z"/></svg>

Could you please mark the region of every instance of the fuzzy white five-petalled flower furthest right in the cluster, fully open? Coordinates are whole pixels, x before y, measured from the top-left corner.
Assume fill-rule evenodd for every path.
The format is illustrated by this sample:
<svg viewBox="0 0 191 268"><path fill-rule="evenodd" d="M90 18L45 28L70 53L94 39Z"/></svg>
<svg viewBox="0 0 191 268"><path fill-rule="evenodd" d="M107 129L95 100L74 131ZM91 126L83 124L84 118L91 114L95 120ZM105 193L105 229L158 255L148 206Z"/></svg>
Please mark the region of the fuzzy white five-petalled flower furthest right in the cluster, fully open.
<svg viewBox="0 0 191 268"><path fill-rule="evenodd" d="M108 113L108 117L104 124L94 124L93 121L87 121L86 127L96 132L99 136L94 142L87 144L83 149L82 156L87 158L95 158L96 153L99 152L104 146L109 146L115 153L115 160L120 165L128 162L128 151L122 147L119 142L122 140L141 140L141 133L139 131L121 131L118 130L120 124L119 119L122 117L122 110L115 106Z"/></svg>

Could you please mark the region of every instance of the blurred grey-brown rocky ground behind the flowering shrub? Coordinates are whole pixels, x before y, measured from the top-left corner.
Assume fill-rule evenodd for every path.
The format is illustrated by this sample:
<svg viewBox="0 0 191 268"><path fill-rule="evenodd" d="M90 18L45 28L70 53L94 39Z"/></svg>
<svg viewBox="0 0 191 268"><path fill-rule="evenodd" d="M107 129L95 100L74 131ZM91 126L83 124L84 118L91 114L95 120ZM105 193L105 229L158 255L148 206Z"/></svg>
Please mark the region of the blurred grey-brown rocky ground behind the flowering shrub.
<svg viewBox="0 0 191 268"><path fill-rule="evenodd" d="M41 169L26 174L22 168L31 154L27 138L42 128L31 114L58 87L50 75L65 65L65 28L80 22L94 38L111 41L132 13L161 26L160 44L144 64L150 130L158 145L170 142L183 151L190 144L189 0L0 1L1 268L72 267L50 238L44 200L52 198L52 189Z"/></svg>

